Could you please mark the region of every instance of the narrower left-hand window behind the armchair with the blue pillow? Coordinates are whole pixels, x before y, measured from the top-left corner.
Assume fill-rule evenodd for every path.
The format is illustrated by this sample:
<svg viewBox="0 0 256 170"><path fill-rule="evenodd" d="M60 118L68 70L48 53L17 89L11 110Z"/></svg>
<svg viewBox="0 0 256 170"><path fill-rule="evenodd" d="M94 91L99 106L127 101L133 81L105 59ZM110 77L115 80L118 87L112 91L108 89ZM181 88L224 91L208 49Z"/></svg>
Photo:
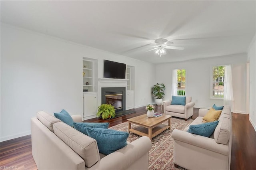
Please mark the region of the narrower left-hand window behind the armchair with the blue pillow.
<svg viewBox="0 0 256 170"><path fill-rule="evenodd" d="M184 96L186 89L186 70L177 69L177 93L178 96Z"/></svg>

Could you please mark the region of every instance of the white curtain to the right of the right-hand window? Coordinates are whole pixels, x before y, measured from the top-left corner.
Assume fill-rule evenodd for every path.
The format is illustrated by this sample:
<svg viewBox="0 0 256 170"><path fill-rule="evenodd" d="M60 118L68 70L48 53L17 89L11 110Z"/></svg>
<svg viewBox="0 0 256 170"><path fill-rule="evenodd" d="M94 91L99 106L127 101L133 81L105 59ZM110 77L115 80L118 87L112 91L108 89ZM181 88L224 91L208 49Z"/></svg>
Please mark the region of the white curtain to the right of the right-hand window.
<svg viewBox="0 0 256 170"><path fill-rule="evenodd" d="M225 65L224 77L224 97L223 104L230 105L231 111L234 109L234 97L232 87L232 70L231 65Z"/></svg>

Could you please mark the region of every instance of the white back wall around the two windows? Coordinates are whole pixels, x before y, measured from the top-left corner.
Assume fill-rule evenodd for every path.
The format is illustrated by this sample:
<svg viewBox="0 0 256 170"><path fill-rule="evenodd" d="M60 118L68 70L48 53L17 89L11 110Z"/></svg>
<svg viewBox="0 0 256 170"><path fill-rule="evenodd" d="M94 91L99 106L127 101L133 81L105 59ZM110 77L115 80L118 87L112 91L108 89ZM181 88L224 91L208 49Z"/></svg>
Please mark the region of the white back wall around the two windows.
<svg viewBox="0 0 256 170"><path fill-rule="evenodd" d="M156 80L166 85L164 99L171 98L172 70L186 69L186 95L192 96L195 107L210 108L223 105L222 99L210 99L211 69L216 65L232 65L234 112L246 113L246 54L211 57L194 61L163 63L156 65Z"/></svg>

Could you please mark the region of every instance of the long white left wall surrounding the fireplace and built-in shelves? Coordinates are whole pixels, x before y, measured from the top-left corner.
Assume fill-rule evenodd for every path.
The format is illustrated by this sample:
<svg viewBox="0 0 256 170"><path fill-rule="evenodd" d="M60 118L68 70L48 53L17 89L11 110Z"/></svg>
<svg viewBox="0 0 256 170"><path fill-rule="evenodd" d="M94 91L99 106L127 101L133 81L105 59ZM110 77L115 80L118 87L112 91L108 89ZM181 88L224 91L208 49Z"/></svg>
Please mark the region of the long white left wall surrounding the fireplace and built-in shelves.
<svg viewBox="0 0 256 170"><path fill-rule="evenodd" d="M1 24L0 141L30 134L36 111L83 113L82 57L135 67L135 107L152 103L154 65Z"/></svg>

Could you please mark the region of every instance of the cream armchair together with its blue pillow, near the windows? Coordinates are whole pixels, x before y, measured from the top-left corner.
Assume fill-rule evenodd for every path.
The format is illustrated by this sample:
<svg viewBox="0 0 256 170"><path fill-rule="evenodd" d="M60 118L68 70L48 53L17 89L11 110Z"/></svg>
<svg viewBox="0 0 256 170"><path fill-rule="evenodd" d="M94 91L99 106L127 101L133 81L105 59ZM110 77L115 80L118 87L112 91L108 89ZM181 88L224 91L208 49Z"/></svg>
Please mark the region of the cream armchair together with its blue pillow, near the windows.
<svg viewBox="0 0 256 170"><path fill-rule="evenodd" d="M195 103L191 96L172 96L172 99L163 101L164 114L188 120L193 116Z"/></svg>

